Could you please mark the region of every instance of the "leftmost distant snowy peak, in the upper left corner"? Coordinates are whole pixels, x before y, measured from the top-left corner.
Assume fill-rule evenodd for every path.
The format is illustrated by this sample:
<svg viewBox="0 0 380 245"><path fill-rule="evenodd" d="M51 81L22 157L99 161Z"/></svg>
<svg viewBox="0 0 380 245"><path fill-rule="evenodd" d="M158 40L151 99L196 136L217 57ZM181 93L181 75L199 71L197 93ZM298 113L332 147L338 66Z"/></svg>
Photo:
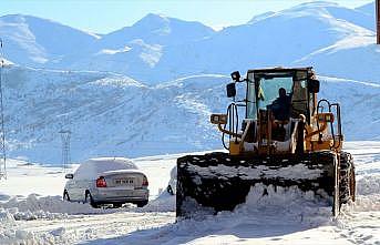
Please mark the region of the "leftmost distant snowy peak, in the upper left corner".
<svg viewBox="0 0 380 245"><path fill-rule="evenodd" d="M51 34L54 33L54 34ZM31 16L0 17L3 52L14 63L50 67L61 59L84 49L97 37Z"/></svg>

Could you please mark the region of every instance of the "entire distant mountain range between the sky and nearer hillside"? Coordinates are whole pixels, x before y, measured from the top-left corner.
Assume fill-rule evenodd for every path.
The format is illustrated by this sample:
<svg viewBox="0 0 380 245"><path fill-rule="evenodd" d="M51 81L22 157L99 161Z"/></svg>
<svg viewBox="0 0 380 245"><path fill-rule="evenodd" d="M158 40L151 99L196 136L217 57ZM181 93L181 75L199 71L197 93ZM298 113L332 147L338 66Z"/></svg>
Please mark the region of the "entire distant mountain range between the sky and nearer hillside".
<svg viewBox="0 0 380 245"><path fill-rule="evenodd" d="M117 72L146 83L268 65L314 65L326 75L373 82L379 76L374 3L349 9L307 2L218 32L158 14L103 35L6 16L0 35L8 59L19 64Z"/></svg>

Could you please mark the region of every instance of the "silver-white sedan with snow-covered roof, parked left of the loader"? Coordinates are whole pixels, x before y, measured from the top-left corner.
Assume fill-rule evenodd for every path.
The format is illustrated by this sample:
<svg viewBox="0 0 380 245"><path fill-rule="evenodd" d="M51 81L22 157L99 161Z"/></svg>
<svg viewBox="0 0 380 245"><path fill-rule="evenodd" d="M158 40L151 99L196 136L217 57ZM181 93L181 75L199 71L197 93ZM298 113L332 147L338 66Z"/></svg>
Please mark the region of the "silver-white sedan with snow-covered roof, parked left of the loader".
<svg viewBox="0 0 380 245"><path fill-rule="evenodd" d="M63 200L120 207L134 203L138 207L148 202L150 191L146 175L127 159L100 157L83 162L69 178L63 191Z"/></svg>

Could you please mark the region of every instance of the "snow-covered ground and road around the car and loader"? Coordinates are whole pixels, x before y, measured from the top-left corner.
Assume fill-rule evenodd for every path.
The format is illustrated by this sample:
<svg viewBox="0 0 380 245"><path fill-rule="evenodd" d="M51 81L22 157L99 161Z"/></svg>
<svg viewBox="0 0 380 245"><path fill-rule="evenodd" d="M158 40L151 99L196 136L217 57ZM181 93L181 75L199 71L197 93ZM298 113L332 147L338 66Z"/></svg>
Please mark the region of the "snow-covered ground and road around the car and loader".
<svg viewBox="0 0 380 245"><path fill-rule="evenodd" d="M317 206L312 195L296 190L269 192L267 200L257 200L251 192L247 203L233 213L177 223L174 198L166 194L144 208L126 205L115 210L68 204L57 196L25 198L32 192L42 196L60 195L64 171L13 162L9 180L0 182L0 244L380 245L380 142L349 142L346 150L353 153L358 196L356 204L345 206L336 220L331 218L329 207ZM135 160L150 178L151 200L167 184L176 157ZM22 196L14 198L14 195ZM11 196L13 200L9 201Z"/></svg>

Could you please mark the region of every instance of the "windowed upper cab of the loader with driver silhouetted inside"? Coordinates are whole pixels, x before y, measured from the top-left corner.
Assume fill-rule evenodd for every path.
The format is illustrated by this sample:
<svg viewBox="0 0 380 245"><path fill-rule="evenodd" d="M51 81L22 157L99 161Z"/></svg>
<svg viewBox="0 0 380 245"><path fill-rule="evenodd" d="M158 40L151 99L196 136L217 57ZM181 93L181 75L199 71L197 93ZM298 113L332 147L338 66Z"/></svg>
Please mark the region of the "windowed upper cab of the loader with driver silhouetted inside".
<svg viewBox="0 0 380 245"><path fill-rule="evenodd" d="M304 114L310 122L319 91L319 82L312 78L311 68L249 70L246 79L246 119L257 120L259 111L271 110L275 120L298 119ZM284 90L281 99L280 91ZM284 106L285 111L276 113L278 106Z"/></svg>

